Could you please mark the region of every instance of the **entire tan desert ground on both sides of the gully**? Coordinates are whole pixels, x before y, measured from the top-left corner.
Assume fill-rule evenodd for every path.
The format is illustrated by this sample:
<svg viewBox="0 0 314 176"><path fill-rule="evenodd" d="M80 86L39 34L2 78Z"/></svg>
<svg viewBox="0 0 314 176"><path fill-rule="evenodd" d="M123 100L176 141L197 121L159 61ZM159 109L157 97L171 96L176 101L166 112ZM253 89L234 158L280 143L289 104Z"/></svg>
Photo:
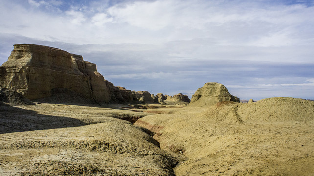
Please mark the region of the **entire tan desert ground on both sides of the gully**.
<svg viewBox="0 0 314 176"><path fill-rule="evenodd" d="M0 112L3 176L314 176L307 100L2 103Z"/></svg>

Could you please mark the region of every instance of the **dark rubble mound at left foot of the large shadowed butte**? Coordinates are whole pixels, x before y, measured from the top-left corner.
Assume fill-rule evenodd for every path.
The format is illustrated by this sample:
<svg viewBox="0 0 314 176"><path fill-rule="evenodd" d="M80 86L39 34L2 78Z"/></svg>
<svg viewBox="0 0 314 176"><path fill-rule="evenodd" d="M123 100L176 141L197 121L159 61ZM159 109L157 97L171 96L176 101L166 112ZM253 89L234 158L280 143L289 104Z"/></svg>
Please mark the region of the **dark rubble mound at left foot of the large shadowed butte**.
<svg viewBox="0 0 314 176"><path fill-rule="evenodd" d="M34 102L28 100L20 93L6 88L0 88L0 104L8 104L11 106L35 105Z"/></svg>

